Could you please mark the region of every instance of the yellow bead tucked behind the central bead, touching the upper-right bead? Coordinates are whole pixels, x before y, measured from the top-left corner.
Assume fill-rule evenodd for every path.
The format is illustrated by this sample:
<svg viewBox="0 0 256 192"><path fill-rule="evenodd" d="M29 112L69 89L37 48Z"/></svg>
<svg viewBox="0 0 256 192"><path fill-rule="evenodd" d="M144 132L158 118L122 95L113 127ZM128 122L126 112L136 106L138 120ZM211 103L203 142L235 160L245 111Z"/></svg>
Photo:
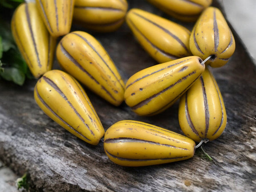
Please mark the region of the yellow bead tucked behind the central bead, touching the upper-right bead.
<svg viewBox="0 0 256 192"><path fill-rule="evenodd" d="M190 31L175 22L141 9L131 9L126 23L137 41L158 63L192 55Z"/></svg>

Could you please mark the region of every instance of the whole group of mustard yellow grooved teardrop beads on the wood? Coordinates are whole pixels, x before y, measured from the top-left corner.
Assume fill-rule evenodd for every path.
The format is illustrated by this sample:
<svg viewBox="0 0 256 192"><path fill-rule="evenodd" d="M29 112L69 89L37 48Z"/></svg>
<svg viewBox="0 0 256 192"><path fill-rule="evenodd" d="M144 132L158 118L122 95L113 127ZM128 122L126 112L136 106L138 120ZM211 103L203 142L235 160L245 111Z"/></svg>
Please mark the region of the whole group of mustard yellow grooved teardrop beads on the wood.
<svg viewBox="0 0 256 192"><path fill-rule="evenodd" d="M221 11L209 7L211 0L149 2L181 20L200 17L190 32L140 9L126 14L125 0L109 4L103 0L36 0L36 4L18 7L12 18L20 52L34 76L41 77L34 92L39 107L87 143L97 145L105 135L107 156L123 166L191 158L201 143L217 139L227 122L221 92L208 67L224 66L235 50L234 37ZM73 15L80 24L101 32L115 31L126 21L137 41L160 64L135 73L125 85L110 56L92 35L69 33ZM56 37L61 35L65 36L55 49ZM66 72L52 70L53 50ZM76 79L115 106L125 100L140 116L161 113L180 99L179 122L186 136L134 120L116 122L105 133Z"/></svg>

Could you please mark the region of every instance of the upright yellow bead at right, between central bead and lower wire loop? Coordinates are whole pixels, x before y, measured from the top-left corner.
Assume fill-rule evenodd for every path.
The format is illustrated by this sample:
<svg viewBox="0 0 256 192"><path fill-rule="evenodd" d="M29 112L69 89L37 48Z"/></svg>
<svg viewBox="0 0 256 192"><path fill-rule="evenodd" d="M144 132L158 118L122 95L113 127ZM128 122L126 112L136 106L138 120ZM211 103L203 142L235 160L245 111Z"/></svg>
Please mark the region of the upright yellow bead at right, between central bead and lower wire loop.
<svg viewBox="0 0 256 192"><path fill-rule="evenodd" d="M227 123L221 92L206 67L202 76L180 98L179 122L183 133L196 142L217 139Z"/></svg>

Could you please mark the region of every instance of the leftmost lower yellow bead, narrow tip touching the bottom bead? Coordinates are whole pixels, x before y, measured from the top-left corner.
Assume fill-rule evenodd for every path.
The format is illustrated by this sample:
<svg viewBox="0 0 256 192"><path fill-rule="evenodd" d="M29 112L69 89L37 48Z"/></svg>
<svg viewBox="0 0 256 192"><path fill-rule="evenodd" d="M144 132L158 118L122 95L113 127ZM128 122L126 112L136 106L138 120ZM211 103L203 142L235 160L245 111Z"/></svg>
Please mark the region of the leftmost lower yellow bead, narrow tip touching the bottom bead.
<svg viewBox="0 0 256 192"><path fill-rule="evenodd" d="M105 134L87 94L67 73L45 73L35 85L34 97L44 113L81 140L97 145Z"/></svg>

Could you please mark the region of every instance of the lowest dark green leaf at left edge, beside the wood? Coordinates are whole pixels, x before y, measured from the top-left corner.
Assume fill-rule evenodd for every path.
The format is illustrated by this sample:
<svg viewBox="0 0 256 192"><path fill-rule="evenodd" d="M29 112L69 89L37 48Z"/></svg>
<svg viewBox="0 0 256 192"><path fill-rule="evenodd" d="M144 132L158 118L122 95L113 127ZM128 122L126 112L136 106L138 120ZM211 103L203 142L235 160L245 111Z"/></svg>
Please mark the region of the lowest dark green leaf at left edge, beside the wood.
<svg viewBox="0 0 256 192"><path fill-rule="evenodd" d="M23 85L25 81L25 74L15 67L4 68L4 71L0 73L0 76L3 79L13 81L18 85Z"/></svg>

